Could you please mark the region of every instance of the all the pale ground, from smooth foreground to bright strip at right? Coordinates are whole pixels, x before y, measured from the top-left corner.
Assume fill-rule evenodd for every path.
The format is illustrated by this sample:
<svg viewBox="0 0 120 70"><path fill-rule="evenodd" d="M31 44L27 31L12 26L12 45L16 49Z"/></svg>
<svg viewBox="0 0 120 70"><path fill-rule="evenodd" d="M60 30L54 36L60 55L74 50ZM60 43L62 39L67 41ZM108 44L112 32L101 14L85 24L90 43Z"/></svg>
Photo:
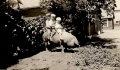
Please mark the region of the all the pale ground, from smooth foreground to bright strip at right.
<svg viewBox="0 0 120 70"><path fill-rule="evenodd" d="M120 70L120 28L104 30L98 37L110 42L75 48L74 53L43 51L20 59L7 70Z"/></svg>

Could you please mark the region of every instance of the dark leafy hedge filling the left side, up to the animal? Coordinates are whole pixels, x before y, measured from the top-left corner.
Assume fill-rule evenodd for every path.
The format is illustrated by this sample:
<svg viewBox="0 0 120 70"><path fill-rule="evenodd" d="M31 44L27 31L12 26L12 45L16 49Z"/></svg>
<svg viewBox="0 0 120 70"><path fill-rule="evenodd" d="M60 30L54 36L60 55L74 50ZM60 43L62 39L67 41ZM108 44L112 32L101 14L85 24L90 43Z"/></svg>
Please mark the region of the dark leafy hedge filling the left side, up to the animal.
<svg viewBox="0 0 120 70"><path fill-rule="evenodd" d="M18 59L28 57L44 49L42 29L44 17L24 21L20 11L7 5L0 7L0 69L16 63Z"/></svg>

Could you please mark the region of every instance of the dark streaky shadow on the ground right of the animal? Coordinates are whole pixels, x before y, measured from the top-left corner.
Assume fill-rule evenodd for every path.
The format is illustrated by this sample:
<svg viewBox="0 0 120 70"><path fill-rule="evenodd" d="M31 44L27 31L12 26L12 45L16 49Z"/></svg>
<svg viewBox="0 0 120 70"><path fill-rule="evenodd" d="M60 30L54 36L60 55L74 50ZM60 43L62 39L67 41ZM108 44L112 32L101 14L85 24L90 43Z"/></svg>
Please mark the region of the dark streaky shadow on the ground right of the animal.
<svg viewBox="0 0 120 70"><path fill-rule="evenodd" d="M92 38L87 38L85 39L86 41L81 42L82 46L85 45L91 45L93 47L98 47L98 48L108 48L108 49L113 49L116 48L117 45L114 45L114 39L110 38L100 38L97 36L94 36Z"/></svg>

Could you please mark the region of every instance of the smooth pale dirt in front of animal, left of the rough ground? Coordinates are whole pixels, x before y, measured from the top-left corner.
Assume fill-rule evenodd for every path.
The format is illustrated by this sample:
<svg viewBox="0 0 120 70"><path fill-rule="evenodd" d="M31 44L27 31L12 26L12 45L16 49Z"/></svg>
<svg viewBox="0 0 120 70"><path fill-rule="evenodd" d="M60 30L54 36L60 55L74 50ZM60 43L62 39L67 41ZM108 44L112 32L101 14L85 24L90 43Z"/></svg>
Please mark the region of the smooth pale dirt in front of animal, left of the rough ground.
<svg viewBox="0 0 120 70"><path fill-rule="evenodd" d="M74 61L72 55L73 53L63 54L61 52L44 51L30 58L21 60L17 65L8 68L8 70L65 70L73 66L72 63L70 63Z"/></svg>

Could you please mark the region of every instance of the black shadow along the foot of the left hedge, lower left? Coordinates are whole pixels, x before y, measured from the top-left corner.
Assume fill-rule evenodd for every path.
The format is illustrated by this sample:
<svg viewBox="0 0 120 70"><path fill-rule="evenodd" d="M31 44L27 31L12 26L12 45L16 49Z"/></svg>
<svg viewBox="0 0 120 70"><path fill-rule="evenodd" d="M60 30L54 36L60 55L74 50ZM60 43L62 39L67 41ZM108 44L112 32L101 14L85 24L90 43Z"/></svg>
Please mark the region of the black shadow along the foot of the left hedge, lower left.
<svg viewBox="0 0 120 70"><path fill-rule="evenodd" d="M9 54L10 52L6 52L6 50L0 51L1 57L0 57L0 69L6 69L12 65L15 65L19 62L20 59L31 57L35 54L38 54L39 52L42 52L45 50L44 48L34 48L33 50L29 51L20 51L18 53Z"/></svg>

